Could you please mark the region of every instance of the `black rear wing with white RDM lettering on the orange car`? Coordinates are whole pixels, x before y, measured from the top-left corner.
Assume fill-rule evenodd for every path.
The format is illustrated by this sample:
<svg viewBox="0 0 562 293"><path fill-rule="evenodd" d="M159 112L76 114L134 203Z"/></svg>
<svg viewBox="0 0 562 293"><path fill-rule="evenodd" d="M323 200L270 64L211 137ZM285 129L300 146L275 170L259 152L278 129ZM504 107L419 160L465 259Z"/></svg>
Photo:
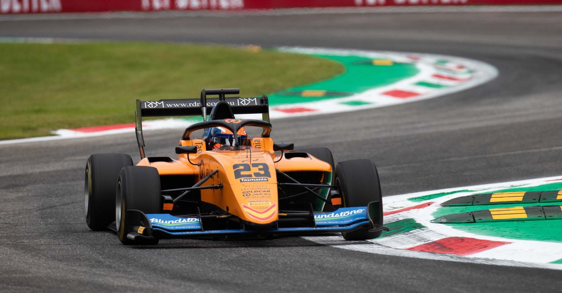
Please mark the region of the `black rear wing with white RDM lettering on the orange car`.
<svg viewBox="0 0 562 293"><path fill-rule="evenodd" d="M144 137L142 132L142 118L162 116L203 116L207 120L207 113L219 101L229 103L233 114L262 114L262 120L269 122L268 96L261 97L225 97L226 94L239 94L238 88L202 89L200 98L167 99L158 101L137 100L135 109L135 132L139 146L140 158L144 158ZM207 98L207 96L218 96ZM205 105L204 107L202 105Z"/></svg>

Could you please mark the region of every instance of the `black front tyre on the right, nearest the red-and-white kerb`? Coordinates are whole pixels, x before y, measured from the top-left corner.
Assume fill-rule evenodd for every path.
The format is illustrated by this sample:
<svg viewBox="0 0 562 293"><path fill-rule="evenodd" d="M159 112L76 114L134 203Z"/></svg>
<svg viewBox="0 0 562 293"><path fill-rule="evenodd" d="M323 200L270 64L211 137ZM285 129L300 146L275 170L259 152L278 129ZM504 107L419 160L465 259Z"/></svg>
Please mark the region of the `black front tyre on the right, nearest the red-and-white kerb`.
<svg viewBox="0 0 562 293"><path fill-rule="evenodd" d="M350 160L338 163L336 166L336 190L342 196L342 205L367 206L371 201L380 202L378 218L382 224L382 195L377 167L371 160ZM382 231L368 232L368 228L361 228L353 232L342 233L346 240L368 240L377 238Z"/></svg>

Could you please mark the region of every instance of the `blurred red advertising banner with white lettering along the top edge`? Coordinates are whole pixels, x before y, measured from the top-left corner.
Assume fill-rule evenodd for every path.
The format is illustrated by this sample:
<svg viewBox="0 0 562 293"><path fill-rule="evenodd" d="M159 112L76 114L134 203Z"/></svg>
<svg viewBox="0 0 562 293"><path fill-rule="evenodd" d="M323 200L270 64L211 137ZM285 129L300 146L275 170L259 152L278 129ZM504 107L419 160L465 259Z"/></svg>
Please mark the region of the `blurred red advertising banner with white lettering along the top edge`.
<svg viewBox="0 0 562 293"><path fill-rule="evenodd" d="M562 0L0 0L0 13L562 4Z"/></svg>

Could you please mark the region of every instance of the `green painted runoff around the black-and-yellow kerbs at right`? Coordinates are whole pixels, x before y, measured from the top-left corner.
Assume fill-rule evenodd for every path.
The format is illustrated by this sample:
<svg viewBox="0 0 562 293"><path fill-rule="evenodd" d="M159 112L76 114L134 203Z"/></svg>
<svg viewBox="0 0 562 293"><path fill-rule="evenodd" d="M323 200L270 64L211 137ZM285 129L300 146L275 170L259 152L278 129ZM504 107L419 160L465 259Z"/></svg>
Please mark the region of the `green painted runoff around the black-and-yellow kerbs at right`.
<svg viewBox="0 0 562 293"><path fill-rule="evenodd" d="M493 192L509 191L553 191L562 190L562 182L554 182L533 187L514 187L506 188ZM488 192L492 193L492 192ZM537 206L555 205L553 204L503 204L503 205L478 205L478 206L442 206L437 209L432 216L434 218L448 214L468 213L475 210L511 208L513 206ZM513 222L487 222L487 223L466 223L466 224L446 224L455 229L470 232L478 235L505 237L520 240L540 240L562 242L562 220L527 220Z"/></svg>

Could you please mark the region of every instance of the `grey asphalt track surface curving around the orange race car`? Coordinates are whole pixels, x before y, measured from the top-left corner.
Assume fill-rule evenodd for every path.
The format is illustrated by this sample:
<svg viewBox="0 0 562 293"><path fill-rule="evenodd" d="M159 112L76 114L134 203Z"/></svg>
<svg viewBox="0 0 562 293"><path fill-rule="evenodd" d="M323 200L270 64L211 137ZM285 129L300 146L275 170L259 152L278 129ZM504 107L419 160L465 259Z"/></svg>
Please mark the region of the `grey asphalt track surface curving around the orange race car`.
<svg viewBox="0 0 562 293"><path fill-rule="evenodd" d="M384 195L396 195L562 174L560 20L559 12L473 12L4 21L0 36L412 51L496 66L496 80L450 96L274 122L277 141L328 146L337 161L373 159ZM179 136L147 132L148 155L173 155ZM562 288L558 271L367 254L297 237L125 247L85 225L83 169L96 152L139 158L133 134L0 146L0 291Z"/></svg>

